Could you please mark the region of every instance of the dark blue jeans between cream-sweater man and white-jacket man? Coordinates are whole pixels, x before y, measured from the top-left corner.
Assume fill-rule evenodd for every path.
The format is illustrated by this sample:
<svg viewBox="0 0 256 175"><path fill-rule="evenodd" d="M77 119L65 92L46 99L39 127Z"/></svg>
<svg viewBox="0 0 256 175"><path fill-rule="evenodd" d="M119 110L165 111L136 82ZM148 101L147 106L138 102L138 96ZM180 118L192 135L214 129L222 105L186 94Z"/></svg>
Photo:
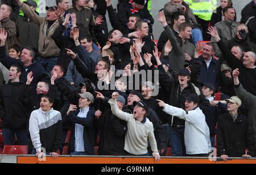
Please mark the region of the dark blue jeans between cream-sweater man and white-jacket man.
<svg viewBox="0 0 256 175"><path fill-rule="evenodd" d="M185 156L184 127L169 127L172 156Z"/></svg>

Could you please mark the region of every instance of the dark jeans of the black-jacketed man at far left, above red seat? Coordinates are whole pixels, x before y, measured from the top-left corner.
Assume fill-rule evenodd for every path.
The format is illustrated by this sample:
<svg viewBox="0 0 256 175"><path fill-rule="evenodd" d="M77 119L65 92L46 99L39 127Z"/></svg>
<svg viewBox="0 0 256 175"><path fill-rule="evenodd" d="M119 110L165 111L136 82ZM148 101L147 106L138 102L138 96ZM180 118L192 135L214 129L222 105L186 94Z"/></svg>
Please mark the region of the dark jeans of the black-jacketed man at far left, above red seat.
<svg viewBox="0 0 256 175"><path fill-rule="evenodd" d="M14 129L3 128L3 144L15 145L15 135L18 141L18 145L27 145L28 138L27 128Z"/></svg>

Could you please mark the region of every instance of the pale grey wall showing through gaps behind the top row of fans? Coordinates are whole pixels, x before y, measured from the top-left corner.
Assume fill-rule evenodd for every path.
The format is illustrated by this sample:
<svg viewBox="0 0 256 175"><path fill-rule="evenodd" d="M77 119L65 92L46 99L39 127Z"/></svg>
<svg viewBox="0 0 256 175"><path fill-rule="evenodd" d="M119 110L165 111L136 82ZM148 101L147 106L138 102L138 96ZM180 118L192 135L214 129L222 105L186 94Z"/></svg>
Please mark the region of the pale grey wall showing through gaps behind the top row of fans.
<svg viewBox="0 0 256 175"><path fill-rule="evenodd" d="M155 23L154 23L154 27L153 27L153 31L154 31L154 37L155 39L158 39L161 32L163 31L163 27L161 26L161 24L158 22L158 11L160 9L163 9L164 4L167 3L169 0L151 0L152 2L152 12L153 12L153 18L155 19ZM41 0L40 1L42 6L43 4L52 6L55 5L55 1L54 0ZM72 4L72 1L70 0L70 5ZM113 7L117 6L117 2L118 0L112 0L112 4ZM237 11L237 20L240 21L241 19L241 10L243 9L243 7L245 5L247 5L247 3L251 2L251 0L233 0L233 4L234 4L234 8ZM220 4L220 1L218 1L218 4ZM43 10L43 9L42 9ZM44 15L44 14L42 14ZM111 30L111 26L110 23L108 22L108 26L109 26L109 30Z"/></svg>

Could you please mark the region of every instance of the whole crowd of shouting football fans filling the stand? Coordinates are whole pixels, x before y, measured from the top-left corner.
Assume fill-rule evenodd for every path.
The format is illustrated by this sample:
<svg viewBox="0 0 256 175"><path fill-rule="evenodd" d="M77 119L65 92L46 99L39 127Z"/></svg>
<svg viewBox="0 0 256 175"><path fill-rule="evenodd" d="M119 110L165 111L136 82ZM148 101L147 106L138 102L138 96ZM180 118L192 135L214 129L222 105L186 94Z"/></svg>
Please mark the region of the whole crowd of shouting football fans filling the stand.
<svg viewBox="0 0 256 175"><path fill-rule="evenodd" d="M56 0L45 18L0 2L3 145L55 159L70 132L70 155L256 156L256 0L240 22L231 0L170 0L158 40L150 0Z"/></svg>

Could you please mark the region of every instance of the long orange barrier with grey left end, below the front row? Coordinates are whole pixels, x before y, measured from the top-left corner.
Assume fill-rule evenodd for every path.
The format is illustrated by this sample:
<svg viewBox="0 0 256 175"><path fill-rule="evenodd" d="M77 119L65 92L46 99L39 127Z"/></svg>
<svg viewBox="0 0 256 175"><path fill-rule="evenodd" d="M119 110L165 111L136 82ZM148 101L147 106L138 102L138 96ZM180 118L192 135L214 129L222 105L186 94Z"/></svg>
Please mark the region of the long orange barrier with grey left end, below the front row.
<svg viewBox="0 0 256 175"><path fill-rule="evenodd" d="M210 160L211 159L211 160ZM256 164L256 158L230 157L222 161L220 157L161 157L155 163L151 156L71 156L63 155L52 159L46 156L39 160L32 155L0 155L0 163L13 164Z"/></svg>

